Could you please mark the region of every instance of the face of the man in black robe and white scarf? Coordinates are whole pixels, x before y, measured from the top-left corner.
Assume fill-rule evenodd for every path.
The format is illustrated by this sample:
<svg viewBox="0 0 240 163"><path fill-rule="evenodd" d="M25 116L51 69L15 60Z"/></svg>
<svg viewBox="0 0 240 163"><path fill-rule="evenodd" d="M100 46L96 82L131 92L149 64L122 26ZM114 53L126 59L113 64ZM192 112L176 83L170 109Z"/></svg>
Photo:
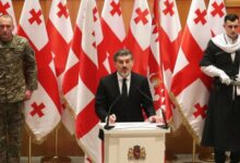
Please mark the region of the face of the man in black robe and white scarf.
<svg viewBox="0 0 240 163"><path fill-rule="evenodd" d="M239 20L236 20L233 22L227 21L224 27L228 37L230 37L231 39L236 39L238 37Z"/></svg>

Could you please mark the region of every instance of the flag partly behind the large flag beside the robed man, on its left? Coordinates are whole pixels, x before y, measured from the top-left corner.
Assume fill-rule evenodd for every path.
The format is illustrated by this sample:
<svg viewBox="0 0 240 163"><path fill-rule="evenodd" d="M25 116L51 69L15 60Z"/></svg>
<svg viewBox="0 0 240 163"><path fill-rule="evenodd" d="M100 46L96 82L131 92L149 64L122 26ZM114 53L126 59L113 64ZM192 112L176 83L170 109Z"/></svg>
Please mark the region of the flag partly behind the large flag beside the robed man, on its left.
<svg viewBox="0 0 240 163"><path fill-rule="evenodd" d="M176 0L160 0L160 52L166 74L167 88L171 84L172 72L181 41L181 23Z"/></svg>

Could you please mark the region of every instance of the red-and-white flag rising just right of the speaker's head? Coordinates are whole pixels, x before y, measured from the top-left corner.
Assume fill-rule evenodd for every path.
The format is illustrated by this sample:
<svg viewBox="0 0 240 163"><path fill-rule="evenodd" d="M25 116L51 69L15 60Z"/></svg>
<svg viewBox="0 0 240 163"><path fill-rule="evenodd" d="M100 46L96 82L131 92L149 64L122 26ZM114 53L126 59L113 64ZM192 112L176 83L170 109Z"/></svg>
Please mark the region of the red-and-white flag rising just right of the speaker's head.
<svg viewBox="0 0 240 163"><path fill-rule="evenodd" d="M125 47L134 57L133 71L146 76L152 17L146 0L135 0Z"/></svg>

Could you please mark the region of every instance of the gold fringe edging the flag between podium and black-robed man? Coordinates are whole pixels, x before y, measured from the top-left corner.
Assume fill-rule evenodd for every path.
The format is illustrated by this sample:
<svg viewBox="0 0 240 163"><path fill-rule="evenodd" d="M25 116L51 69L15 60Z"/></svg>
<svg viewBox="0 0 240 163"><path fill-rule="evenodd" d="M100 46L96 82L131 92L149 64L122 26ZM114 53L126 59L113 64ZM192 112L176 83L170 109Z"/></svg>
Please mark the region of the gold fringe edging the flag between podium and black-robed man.
<svg viewBox="0 0 240 163"><path fill-rule="evenodd" d="M192 138L195 140L195 142L197 145L200 145L200 137L196 135L196 133L193 130L193 128L191 127L191 125L189 124L188 118L185 117L184 113L183 113L183 106L182 104L180 104L177 100L177 98L175 97L175 95L172 92L169 92L169 96L171 98L171 101L175 103L175 105L177 106L179 114L182 117L182 124L185 126L187 130L189 131L189 134L192 136Z"/></svg>

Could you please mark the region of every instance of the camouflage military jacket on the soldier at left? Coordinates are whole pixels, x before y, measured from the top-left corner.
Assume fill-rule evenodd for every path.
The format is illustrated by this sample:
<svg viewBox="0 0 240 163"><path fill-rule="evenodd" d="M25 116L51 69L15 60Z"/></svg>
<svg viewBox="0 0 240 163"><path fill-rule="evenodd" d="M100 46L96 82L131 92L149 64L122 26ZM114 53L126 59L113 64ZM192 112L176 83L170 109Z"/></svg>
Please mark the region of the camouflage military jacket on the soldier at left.
<svg viewBox="0 0 240 163"><path fill-rule="evenodd" d="M0 103L22 101L25 90L37 88L35 54L26 38L14 35L0 41Z"/></svg>

